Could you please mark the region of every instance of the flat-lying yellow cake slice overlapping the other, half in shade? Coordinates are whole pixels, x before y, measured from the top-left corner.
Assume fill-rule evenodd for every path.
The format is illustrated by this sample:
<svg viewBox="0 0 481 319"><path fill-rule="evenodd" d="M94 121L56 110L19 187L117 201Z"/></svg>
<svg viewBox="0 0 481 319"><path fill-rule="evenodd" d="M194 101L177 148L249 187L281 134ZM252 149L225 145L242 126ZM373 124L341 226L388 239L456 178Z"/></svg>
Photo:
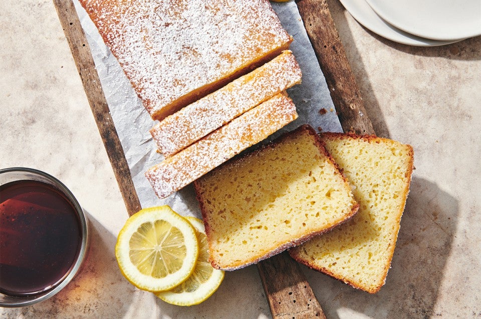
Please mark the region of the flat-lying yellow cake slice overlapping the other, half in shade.
<svg viewBox="0 0 481 319"><path fill-rule="evenodd" d="M358 209L314 129L303 125L194 182L214 268L234 270L299 245Z"/></svg>

